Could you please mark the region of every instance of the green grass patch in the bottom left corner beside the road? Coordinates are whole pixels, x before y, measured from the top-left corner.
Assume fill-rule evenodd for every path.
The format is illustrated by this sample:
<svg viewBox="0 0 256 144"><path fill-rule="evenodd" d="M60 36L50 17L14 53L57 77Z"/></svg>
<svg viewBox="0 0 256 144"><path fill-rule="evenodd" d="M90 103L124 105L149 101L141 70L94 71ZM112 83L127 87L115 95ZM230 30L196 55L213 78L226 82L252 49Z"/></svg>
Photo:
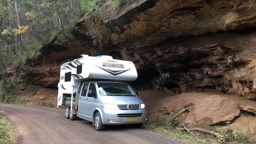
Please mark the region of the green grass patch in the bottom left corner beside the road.
<svg viewBox="0 0 256 144"><path fill-rule="evenodd" d="M0 144L16 144L17 139L14 136L14 126L2 114L0 109Z"/></svg>

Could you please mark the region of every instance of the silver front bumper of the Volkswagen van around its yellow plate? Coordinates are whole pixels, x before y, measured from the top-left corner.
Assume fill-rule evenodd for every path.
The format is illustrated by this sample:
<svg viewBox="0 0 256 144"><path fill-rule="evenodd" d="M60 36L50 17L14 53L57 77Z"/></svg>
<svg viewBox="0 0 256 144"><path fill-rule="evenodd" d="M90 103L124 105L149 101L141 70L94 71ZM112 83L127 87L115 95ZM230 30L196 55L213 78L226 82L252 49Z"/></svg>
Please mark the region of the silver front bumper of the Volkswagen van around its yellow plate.
<svg viewBox="0 0 256 144"><path fill-rule="evenodd" d="M134 117L135 122L126 122L127 117L118 117L117 114L139 114L142 116ZM146 108L138 110L120 110L120 109L105 109L103 108L102 113L102 124L105 125L115 125L115 124L141 124L147 120L147 110Z"/></svg>

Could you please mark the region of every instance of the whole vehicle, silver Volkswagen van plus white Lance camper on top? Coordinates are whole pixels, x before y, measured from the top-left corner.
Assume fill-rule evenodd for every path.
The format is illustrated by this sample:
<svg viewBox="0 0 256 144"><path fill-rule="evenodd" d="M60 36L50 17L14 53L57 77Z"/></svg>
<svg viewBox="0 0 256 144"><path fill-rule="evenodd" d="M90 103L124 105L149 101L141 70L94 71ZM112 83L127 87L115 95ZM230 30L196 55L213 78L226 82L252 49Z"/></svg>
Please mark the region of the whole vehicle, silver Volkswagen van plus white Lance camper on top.
<svg viewBox="0 0 256 144"><path fill-rule="evenodd" d="M147 120L138 92L120 81L134 81L137 70L132 61L111 56L81 55L60 66L57 107L65 105L65 117L92 122L97 131L104 125L136 124Z"/></svg>

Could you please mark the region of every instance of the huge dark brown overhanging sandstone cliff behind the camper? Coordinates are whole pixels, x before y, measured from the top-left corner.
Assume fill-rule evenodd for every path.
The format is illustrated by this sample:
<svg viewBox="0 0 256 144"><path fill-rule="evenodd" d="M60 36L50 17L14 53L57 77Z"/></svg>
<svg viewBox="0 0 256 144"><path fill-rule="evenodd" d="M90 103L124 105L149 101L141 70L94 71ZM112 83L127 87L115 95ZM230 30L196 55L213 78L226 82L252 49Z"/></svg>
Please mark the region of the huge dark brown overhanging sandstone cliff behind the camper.
<svg viewBox="0 0 256 144"><path fill-rule="evenodd" d="M172 94L216 89L256 100L256 3L249 0L127 0L101 7L103 39L93 46L88 21L74 27L75 40L45 44L33 60L31 84L57 87L59 66L80 54L132 60L136 89Z"/></svg>

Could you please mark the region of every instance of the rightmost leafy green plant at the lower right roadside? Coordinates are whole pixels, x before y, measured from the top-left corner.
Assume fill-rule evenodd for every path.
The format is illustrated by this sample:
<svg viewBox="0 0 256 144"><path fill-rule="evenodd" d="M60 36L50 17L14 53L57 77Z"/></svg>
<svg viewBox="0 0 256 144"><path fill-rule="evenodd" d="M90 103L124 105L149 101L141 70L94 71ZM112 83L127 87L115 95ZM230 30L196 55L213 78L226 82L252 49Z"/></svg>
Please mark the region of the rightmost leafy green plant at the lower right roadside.
<svg viewBox="0 0 256 144"><path fill-rule="evenodd" d="M235 125L234 130L232 132L233 138L239 142L247 142L247 137L249 136L244 132L241 128L239 128L238 124Z"/></svg>

